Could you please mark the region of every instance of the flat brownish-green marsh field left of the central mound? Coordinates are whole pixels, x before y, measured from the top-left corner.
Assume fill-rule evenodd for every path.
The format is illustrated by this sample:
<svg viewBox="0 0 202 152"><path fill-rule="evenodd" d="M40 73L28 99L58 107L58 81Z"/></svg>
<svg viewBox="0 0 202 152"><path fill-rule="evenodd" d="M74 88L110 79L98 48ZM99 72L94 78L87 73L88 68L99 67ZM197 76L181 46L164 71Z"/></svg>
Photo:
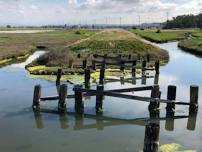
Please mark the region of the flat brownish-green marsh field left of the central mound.
<svg viewBox="0 0 202 152"><path fill-rule="evenodd" d="M92 36L97 31L88 30L76 33L76 30L56 30L32 34L0 34L0 65L22 59L32 53L37 47L43 46L47 50L61 50L78 40Z"/></svg>

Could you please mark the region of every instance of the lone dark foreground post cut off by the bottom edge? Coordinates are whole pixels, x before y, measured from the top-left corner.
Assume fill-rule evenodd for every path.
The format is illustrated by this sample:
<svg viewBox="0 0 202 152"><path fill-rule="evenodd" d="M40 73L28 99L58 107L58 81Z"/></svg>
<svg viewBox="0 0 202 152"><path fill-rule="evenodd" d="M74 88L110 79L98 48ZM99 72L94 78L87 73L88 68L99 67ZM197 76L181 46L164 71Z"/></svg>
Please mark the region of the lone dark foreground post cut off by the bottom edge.
<svg viewBox="0 0 202 152"><path fill-rule="evenodd" d="M159 133L159 124L150 123L146 125L143 152L158 152Z"/></svg>

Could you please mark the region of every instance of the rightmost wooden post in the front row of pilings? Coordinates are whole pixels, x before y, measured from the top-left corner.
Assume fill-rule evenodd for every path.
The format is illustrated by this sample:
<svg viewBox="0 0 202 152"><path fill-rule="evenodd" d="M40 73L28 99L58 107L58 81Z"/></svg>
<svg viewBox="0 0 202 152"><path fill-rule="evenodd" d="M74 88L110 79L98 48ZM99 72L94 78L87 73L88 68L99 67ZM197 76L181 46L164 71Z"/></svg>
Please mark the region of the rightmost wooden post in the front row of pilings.
<svg viewBox="0 0 202 152"><path fill-rule="evenodd" d="M198 111L198 94L199 87L195 85L190 86L190 112Z"/></svg>

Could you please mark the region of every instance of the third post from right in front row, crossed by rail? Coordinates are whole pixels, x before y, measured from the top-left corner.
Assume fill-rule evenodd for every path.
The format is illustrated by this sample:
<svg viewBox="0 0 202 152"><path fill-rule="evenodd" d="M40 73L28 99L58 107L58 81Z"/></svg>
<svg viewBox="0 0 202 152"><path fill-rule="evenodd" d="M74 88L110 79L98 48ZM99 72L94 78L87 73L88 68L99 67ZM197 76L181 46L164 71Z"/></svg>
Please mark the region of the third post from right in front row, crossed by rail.
<svg viewBox="0 0 202 152"><path fill-rule="evenodd" d="M159 98L159 85L155 85L151 91L151 98ZM157 102L150 102L149 104L149 111L155 111L159 108L159 104Z"/></svg>

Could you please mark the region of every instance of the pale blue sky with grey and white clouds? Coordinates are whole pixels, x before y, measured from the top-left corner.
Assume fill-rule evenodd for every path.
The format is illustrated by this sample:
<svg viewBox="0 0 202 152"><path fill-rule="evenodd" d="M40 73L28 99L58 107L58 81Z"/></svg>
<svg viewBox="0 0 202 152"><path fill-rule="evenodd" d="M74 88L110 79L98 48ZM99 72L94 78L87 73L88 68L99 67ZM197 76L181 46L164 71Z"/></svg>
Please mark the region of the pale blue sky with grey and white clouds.
<svg viewBox="0 0 202 152"><path fill-rule="evenodd" d="M202 11L202 0L0 0L0 25L163 22Z"/></svg>

